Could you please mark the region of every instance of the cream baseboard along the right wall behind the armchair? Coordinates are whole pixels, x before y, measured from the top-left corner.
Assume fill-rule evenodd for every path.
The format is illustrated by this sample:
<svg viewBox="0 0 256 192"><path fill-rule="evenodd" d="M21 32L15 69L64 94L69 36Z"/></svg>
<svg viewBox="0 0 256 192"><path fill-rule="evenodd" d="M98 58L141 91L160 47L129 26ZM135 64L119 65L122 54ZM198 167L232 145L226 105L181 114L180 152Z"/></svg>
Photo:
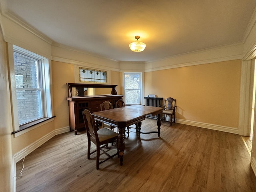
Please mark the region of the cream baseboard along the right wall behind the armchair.
<svg viewBox="0 0 256 192"><path fill-rule="evenodd" d="M224 132L228 132L228 133L238 134L238 128L234 128L234 127L226 127L226 126L220 126L220 125L208 124L208 123L202 123L202 122L195 122L195 121L183 120L183 119L175 119L175 122L180 123L180 124L185 124L185 125L191 125L191 126L196 126L196 127L202 127L202 128L212 129L212 130L218 130L218 131L224 131Z"/></svg>

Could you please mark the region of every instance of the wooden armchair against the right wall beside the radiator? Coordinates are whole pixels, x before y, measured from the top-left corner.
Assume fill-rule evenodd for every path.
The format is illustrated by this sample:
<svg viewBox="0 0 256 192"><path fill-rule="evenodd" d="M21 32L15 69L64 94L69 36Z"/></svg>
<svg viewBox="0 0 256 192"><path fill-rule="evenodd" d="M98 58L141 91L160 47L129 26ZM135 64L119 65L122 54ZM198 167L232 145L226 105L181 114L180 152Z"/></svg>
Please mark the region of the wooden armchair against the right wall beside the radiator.
<svg viewBox="0 0 256 192"><path fill-rule="evenodd" d="M176 99L168 97L164 100L164 105L163 106L163 112L162 114L164 115L164 120L166 121L166 116L170 116L170 126L172 126L172 123L175 123L175 108L176 106Z"/></svg>

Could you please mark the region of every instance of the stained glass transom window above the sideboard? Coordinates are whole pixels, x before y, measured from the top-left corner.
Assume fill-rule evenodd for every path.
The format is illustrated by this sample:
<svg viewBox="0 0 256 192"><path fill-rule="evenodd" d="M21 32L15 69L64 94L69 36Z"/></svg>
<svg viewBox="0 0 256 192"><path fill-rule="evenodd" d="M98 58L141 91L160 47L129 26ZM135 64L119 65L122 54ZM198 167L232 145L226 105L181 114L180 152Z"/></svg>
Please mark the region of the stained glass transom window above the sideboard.
<svg viewBox="0 0 256 192"><path fill-rule="evenodd" d="M79 68L80 81L107 83L107 72L102 70Z"/></svg>

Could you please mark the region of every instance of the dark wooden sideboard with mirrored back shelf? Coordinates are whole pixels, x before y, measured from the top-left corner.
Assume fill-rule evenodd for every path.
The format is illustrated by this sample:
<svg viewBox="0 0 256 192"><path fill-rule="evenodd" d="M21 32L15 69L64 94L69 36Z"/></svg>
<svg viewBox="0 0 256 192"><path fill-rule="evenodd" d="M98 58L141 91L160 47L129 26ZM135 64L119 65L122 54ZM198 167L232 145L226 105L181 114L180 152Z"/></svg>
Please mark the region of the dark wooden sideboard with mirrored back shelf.
<svg viewBox="0 0 256 192"><path fill-rule="evenodd" d="M68 85L68 106L69 106L69 127L70 131L74 130L75 135L77 130L84 130L84 119L82 111L88 109L91 113L100 111L100 104L104 101L109 101L113 104L113 108L116 107L116 101L122 99L123 95L117 95L117 85L106 84L77 84L67 83ZM112 88L109 95L94 95L94 96L72 96L72 88Z"/></svg>

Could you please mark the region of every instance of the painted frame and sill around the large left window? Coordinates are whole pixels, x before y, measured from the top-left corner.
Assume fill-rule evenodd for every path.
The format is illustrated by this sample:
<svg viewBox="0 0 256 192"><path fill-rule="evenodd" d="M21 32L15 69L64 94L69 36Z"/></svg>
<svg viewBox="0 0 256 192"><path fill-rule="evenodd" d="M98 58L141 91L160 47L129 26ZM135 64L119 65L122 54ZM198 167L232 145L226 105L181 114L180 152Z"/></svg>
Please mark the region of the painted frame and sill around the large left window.
<svg viewBox="0 0 256 192"><path fill-rule="evenodd" d="M43 117L32 122L28 122L26 124L19 125L18 118L18 103L17 103L17 95L16 95L16 81L15 81L15 70L14 70L14 52L22 54L24 56L29 56L32 58L36 58L41 62L41 83L42 83L42 113ZM52 101L51 101L51 88L50 88L50 60L44 56L38 55L34 52L21 48L19 46L8 44L8 53L9 53L9 84L10 84L10 96L11 96L11 111L12 111L12 124L13 124L13 134L15 136L19 136L20 131L25 130L27 128L32 129L39 126L40 123L45 121L52 121L54 116ZM51 120L50 120L51 119ZM27 130L28 131L28 130ZM26 131L26 132L27 132ZM18 133L19 132L19 133ZM16 134L18 133L18 134Z"/></svg>

